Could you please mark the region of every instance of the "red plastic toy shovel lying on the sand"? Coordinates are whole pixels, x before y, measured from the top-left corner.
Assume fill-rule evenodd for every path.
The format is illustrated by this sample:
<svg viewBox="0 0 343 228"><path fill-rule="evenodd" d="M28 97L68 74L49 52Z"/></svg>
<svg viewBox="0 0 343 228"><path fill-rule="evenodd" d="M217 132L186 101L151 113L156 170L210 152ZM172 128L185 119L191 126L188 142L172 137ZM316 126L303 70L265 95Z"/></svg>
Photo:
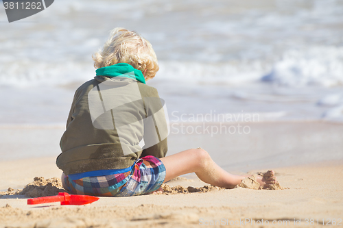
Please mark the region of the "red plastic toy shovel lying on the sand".
<svg viewBox="0 0 343 228"><path fill-rule="evenodd" d="M27 199L27 204L54 203L61 202L61 205L84 205L97 201L99 197L84 196L79 194L68 194L67 192L59 192L54 197L38 197Z"/></svg>

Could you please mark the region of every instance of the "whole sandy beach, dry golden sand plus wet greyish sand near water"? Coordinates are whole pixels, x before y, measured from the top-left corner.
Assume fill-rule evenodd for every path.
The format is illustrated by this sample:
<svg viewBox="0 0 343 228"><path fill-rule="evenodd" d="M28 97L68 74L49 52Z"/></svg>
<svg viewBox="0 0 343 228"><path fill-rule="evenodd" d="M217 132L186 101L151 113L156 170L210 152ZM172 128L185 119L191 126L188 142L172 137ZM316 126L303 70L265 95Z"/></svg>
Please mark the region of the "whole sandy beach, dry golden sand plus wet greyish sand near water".
<svg viewBox="0 0 343 228"><path fill-rule="evenodd" d="M3 192L0 227L318 227L323 226L323 219L324 225L342 224L343 125L317 121L250 123L250 127L250 134L240 136L170 134L168 153L200 146L234 174L274 169L284 190L235 188L101 197L81 206L27 205L29 197ZM1 153L8 159L0 162L0 191L23 189L34 177L60 178L62 172L55 162L62 131L58 127L2 127ZM24 140L16 144L14 138ZM39 145L36 151L35 145ZM187 189L206 183L190 174L167 185Z"/></svg>

